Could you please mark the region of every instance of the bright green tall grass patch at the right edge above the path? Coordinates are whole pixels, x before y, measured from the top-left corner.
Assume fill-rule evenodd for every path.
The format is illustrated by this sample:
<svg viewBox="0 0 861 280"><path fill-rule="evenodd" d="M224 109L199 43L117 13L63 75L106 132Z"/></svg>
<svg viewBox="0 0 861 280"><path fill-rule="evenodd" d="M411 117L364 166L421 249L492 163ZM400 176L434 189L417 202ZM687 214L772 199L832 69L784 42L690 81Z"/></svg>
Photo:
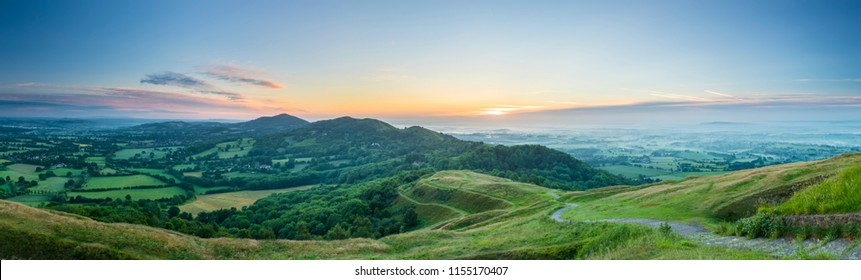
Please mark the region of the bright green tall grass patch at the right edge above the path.
<svg viewBox="0 0 861 280"><path fill-rule="evenodd" d="M774 207L780 215L838 214L861 211L861 166L849 168L836 178L795 193Z"/></svg>

